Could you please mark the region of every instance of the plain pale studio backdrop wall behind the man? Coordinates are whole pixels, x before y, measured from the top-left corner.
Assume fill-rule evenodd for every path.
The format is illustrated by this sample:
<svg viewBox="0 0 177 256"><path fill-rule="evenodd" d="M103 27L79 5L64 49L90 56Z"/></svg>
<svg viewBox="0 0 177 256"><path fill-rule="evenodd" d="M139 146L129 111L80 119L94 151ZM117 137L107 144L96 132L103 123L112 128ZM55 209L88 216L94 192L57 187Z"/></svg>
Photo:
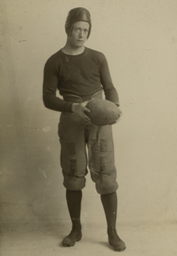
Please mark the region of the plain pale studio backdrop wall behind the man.
<svg viewBox="0 0 177 256"><path fill-rule="evenodd" d="M57 136L60 113L46 109L41 95L45 62L65 45L65 19L78 6L92 18L85 46L108 59L123 111L112 126L120 185L117 225L175 225L177 2L2 0L1 6L2 230L70 229ZM106 229L89 173L81 218L89 232Z"/></svg>

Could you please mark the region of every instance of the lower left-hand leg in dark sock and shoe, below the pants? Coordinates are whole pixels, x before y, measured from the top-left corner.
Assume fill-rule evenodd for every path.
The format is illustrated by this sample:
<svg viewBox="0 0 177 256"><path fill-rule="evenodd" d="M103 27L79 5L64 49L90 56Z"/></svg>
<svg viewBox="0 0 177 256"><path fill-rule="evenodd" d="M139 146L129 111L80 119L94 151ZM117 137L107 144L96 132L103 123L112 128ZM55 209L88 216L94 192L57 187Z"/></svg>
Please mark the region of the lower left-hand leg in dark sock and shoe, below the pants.
<svg viewBox="0 0 177 256"><path fill-rule="evenodd" d="M63 239L63 246L74 246L75 242L81 240L81 198L81 190L66 190L66 201L72 221L72 230L70 234Z"/></svg>

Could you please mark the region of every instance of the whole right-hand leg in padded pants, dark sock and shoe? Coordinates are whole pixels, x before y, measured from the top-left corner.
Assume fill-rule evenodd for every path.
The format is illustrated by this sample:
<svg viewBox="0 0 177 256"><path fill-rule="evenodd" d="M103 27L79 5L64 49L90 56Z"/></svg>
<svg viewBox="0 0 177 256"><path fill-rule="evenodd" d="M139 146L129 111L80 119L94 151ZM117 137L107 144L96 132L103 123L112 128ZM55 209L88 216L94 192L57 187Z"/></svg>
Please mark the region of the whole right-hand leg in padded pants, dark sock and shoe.
<svg viewBox="0 0 177 256"><path fill-rule="evenodd" d="M125 250L124 242L116 234L117 196L116 167L112 126L90 126L88 137L88 165L96 191L101 196L108 223L108 242L114 250Z"/></svg>

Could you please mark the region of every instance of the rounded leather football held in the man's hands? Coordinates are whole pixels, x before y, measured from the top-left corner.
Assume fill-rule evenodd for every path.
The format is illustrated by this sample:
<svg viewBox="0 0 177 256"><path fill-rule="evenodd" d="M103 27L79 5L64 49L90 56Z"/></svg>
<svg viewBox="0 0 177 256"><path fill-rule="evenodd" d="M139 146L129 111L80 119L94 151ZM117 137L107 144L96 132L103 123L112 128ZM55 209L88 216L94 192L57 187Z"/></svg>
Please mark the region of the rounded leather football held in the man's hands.
<svg viewBox="0 0 177 256"><path fill-rule="evenodd" d="M115 103L106 99L94 99L86 105L90 112L85 112L96 126L111 125L120 115Z"/></svg>

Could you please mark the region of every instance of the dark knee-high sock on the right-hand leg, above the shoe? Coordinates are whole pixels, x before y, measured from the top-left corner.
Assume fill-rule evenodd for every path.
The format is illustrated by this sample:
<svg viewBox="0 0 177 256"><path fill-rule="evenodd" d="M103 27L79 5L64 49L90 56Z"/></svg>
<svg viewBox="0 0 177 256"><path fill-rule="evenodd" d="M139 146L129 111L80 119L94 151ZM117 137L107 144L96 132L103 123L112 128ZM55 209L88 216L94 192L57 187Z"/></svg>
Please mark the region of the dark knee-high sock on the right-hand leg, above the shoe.
<svg viewBox="0 0 177 256"><path fill-rule="evenodd" d="M101 194L101 202L104 206L104 213L108 229L116 229L116 215L117 215L117 195L116 192L112 194Z"/></svg>

